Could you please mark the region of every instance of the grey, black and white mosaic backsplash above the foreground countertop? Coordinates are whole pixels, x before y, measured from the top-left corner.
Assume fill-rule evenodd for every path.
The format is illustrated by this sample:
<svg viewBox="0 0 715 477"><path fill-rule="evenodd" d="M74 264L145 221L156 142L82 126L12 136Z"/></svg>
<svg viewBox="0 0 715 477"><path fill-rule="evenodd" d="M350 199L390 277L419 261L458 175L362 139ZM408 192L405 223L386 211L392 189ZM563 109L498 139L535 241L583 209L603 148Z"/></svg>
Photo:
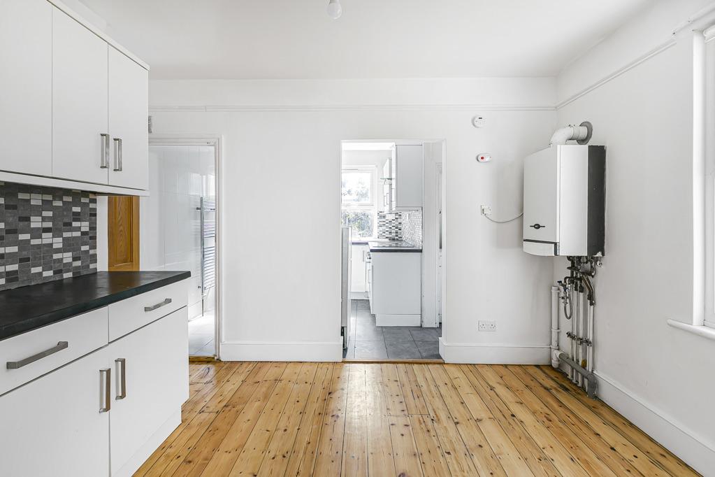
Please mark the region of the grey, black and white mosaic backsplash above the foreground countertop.
<svg viewBox="0 0 715 477"><path fill-rule="evenodd" d="M97 198L0 182L0 290L97 272Z"/></svg>

